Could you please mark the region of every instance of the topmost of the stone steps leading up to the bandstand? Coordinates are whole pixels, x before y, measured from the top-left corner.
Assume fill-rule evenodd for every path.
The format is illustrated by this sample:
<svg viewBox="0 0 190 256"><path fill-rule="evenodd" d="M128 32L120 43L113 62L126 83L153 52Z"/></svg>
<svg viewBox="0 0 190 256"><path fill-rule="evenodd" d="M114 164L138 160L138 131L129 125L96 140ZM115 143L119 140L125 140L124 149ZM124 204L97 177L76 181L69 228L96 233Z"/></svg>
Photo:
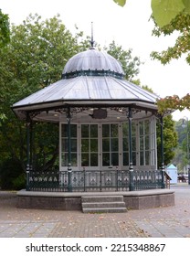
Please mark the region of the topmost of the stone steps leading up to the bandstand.
<svg viewBox="0 0 190 256"><path fill-rule="evenodd" d="M83 203L89 202L123 202L123 196L87 196L82 197Z"/></svg>

